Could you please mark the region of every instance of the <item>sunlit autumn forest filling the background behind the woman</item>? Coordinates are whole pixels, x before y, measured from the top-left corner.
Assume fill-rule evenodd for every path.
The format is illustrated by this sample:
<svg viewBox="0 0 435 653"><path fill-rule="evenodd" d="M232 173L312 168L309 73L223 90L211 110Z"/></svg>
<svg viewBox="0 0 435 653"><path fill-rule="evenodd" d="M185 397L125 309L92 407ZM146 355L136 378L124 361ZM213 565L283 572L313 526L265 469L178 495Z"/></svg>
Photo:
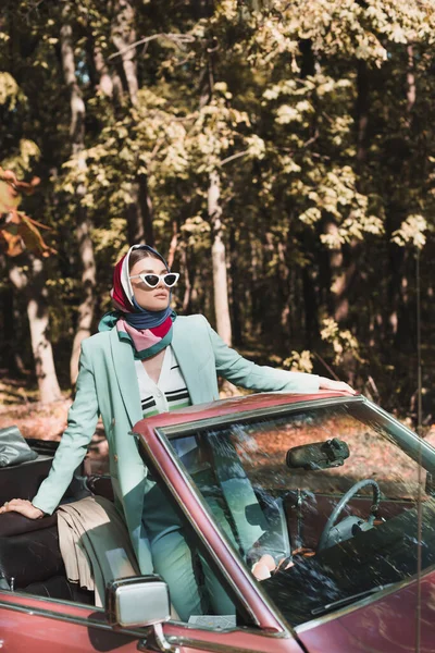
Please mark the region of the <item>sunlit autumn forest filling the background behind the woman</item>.
<svg viewBox="0 0 435 653"><path fill-rule="evenodd" d="M431 423L434 46L433 0L2 0L1 377L71 395L144 242L178 315L401 417L421 370Z"/></svg>

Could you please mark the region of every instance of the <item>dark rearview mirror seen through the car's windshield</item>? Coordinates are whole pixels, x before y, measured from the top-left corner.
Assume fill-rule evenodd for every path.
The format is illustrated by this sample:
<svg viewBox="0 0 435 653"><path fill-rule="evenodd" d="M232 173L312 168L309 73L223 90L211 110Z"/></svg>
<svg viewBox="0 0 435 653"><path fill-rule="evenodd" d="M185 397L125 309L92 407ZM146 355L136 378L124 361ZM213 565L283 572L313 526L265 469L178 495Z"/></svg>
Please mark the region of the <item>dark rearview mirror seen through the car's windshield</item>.
<svg viewBox="0 0 435 653"><path fill-rule="evenodd" d="M340 467L348 457L349 447L346 442L333 438L325 442L294 446L287 452L286 463L291 469L326 469Z"/></svg>

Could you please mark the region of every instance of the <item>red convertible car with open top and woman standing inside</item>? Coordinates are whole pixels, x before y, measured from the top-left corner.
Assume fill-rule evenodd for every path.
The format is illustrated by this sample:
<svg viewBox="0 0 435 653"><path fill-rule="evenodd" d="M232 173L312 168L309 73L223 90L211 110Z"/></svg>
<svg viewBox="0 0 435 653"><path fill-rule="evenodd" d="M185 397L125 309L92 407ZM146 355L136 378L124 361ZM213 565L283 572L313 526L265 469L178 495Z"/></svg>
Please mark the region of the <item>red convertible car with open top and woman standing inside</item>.
<svg viewBox="0 0 435 653"><path fill-rule="evenodd" d="M8 513L0 649L435 652L435 449L390 415L358 395L258 394L148 418L134 435L234 612L171 617L158 576L113 580L97 608L65 578L55 515ZM50 461L0 470L0 502L17 483L32 496ZM88 480L100 486L110 494Z"/></svg>

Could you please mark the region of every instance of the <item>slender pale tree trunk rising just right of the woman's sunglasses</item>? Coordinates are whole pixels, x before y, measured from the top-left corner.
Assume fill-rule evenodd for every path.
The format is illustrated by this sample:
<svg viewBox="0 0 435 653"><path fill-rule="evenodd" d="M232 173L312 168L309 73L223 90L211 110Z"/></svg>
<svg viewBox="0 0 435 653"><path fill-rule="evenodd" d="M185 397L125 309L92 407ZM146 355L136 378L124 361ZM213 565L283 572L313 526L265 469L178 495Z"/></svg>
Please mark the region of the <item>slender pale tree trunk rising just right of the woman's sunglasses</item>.
<svg viewBox="0 0 435 653"><path fill-rule="evenodd" d="M232 326L229 320L228 284L226 278L226 251L223 238L221 188L219 173L210 173L208 210L212 231L211 258L213 262L213 293L216 329L222 340L231 346Z"/></svg>

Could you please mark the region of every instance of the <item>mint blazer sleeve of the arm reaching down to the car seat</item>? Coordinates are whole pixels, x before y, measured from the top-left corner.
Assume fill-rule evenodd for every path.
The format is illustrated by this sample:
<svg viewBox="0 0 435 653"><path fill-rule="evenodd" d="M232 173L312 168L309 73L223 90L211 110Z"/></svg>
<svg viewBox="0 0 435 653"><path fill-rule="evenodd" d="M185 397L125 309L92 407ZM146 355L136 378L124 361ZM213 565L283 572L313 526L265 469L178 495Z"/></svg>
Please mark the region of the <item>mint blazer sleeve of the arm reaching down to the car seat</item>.
<svg viewBox="0 0 435 653"><path fill-rule="evenodd" d="M84 459L99 417L94 370L85 349L86 343L83 343L77 391L69 411L66 430L55 452L50 473L32 501L34 506L49 515L58 507L75 469Z"/></svg>

